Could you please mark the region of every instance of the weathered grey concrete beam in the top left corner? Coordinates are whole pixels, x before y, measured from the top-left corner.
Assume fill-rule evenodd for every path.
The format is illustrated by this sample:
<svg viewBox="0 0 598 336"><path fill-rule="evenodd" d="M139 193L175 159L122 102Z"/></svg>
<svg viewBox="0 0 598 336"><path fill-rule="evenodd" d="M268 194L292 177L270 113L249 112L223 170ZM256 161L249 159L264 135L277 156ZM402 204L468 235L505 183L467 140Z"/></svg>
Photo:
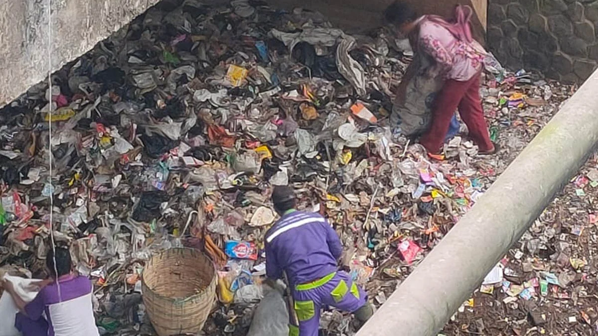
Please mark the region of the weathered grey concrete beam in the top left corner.
<svg viewBox="0 0 598 336"><path fill-rule="evenodd" d="M52 71L158 0L51 0ZM0 107L48 74L48 0L0 0Z"/></svg>

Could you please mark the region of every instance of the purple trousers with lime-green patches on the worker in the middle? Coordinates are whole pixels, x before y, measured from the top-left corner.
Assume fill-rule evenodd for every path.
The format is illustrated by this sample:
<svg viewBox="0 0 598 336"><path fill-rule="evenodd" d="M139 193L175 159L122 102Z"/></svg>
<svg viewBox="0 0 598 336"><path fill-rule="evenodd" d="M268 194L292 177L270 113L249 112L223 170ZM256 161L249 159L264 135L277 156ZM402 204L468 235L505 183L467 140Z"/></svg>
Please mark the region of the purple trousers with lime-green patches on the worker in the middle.
<svg viewBox="0 0 598 336"><path fill-rule="evenodd" d="M318 336L322 307L331 306L353 313L368 301L365 291L343 271L331 273L314 282L296 285L292 295L299 325L294 325L291 317L289 336Z"/></svg>

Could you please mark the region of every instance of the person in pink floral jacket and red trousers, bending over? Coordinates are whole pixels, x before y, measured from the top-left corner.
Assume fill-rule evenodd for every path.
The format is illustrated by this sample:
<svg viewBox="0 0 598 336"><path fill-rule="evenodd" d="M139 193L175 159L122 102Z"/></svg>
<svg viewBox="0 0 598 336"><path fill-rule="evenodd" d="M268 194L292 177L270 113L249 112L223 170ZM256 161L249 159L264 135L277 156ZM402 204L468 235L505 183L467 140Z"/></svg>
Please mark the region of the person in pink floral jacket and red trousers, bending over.
<svg viewBox="0 0 598 336"><path fill-rule="evenodd" d="M442 76L445 80L434 100L431 127L420 138L420 143L430 154L441 151L456 109L469 129L469 136L480 148L480 154L496 152L495 144L490 141L480 97L486 51L472 38L469 25L472 13L469 6L457 6L451 20L432 15L418 17L402 1L394 2L384 13L386 22L408 36L414 52L425 53L434 60L435 66L429 75ZM399 85L399 97L404 98L407 83L415 70L411 66L407 68Z"/></svg>

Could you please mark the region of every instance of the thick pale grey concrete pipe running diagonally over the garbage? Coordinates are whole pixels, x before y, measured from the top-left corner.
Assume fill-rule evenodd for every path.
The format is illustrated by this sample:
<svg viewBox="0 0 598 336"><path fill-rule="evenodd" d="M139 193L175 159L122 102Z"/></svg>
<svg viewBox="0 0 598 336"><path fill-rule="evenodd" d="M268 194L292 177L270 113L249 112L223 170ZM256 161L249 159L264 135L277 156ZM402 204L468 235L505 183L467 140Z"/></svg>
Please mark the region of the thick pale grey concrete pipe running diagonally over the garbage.
<svg viewBox="0 0 598 336"><path fill-rule="evenodd" d="M593 152L597 91L598 71L356 336L437 335Z"/></svg>

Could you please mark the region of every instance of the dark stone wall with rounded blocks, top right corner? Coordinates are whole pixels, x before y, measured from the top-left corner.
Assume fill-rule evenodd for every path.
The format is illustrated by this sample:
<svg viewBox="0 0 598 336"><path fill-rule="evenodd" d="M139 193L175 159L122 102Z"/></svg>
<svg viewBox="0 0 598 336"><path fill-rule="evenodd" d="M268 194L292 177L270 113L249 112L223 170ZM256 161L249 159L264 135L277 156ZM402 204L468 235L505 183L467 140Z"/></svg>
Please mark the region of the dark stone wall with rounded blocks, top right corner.
<svg viewBox="0 0 598 336"><path fill-rule="evenodd" d="M487 41L509 68L585 81L598 60L598 1L489 0Z"/></svg>

